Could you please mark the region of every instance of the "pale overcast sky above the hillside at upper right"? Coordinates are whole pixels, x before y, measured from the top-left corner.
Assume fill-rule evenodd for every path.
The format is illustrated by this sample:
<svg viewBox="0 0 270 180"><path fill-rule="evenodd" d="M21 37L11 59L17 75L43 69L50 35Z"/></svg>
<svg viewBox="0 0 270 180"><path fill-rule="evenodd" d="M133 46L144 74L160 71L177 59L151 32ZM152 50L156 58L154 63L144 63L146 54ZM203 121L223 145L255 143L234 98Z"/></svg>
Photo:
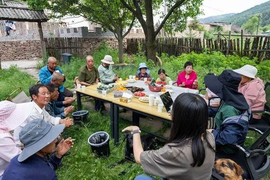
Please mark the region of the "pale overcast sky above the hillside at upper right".
<svg viewBox="0 0 270 180"><path fill-rule="evenodd" d="M204 10L204 15L199 16L199 18L228 13L240 13L267 1L269 0L204 0L201 6Z"/></svg>

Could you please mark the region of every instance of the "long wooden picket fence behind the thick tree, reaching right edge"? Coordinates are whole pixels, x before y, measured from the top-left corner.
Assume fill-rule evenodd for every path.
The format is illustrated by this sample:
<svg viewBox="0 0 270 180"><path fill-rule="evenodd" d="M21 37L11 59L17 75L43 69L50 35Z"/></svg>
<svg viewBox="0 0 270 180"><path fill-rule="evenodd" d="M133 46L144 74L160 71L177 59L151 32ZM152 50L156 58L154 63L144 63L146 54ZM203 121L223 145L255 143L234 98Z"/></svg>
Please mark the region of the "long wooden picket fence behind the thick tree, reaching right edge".
<svg viewBox="0 0 270 180"><path fill-rule="evenodd" d="M228 44L229 42L229 44ZM157 38L157 53L179 56L194 51L201 53L221 51L246 57L257 57L259 61L270 59L270 36L245 37L237 39L196 39L196 38ZM145 39L127 39L127 52L145 51Z"/></svg>

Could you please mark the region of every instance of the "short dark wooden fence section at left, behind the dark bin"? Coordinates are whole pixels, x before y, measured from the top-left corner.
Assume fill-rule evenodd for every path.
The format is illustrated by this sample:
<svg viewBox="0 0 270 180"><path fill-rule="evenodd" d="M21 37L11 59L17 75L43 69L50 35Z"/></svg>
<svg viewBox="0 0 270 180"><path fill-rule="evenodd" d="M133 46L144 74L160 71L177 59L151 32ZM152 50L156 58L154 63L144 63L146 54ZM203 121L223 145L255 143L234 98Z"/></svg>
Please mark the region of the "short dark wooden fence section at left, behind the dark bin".
<svg viewBox="0 0 270 180"><path fill-rule="evenodd" d="M62 62L62 53L71 53L82 58L82 38L45 38L46 50L49 56L54 56Z"/></svg>

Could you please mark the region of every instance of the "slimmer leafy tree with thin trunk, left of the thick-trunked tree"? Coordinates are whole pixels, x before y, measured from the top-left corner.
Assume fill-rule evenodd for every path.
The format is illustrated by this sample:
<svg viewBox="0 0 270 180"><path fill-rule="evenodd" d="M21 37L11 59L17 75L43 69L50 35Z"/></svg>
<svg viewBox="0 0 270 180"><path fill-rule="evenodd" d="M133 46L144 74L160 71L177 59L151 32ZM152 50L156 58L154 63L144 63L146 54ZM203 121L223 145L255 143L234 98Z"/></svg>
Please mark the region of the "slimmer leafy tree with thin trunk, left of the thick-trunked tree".
<svg viewBox="0 0 270 180"><path fill-rule="evenodd" d="M119 62L123 62L123 39L135 23L135 16L119 0L27 0L34 9L48 9L51 16L80 15L114 33ZM125 27L128 30L125 31Z"/></svg>

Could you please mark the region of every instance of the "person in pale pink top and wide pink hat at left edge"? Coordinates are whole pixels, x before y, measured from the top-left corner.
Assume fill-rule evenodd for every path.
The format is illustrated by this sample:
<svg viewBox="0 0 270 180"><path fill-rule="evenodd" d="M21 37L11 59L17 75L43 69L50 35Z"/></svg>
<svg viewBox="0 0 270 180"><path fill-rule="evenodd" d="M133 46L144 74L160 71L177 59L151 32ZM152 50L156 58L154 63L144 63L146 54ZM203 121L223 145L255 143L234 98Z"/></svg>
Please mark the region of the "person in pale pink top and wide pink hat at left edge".
<svg viewBox="0 0 270 180"><path fill-rule="evenodd" d="M22 152L16 147L13 130L29 116L33 103L0 102L0 180L10 160Z"/></svg>

